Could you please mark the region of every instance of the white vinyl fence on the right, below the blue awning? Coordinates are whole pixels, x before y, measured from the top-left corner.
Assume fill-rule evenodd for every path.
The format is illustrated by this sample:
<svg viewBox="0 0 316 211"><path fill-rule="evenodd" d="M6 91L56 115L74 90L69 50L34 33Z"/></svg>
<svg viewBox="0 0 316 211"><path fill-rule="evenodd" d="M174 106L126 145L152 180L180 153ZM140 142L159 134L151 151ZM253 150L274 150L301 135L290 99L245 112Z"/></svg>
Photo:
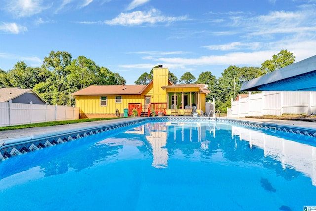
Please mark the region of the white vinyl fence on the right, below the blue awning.
<svg viewBox="0 0 316 211"><path fill-rule="evenodd" d="M229 110L229 109L228 109ZM246 98L232 99L228 117L316 114L315 91L264 91ZM228 113L228 114L229 114Z"/></svg>

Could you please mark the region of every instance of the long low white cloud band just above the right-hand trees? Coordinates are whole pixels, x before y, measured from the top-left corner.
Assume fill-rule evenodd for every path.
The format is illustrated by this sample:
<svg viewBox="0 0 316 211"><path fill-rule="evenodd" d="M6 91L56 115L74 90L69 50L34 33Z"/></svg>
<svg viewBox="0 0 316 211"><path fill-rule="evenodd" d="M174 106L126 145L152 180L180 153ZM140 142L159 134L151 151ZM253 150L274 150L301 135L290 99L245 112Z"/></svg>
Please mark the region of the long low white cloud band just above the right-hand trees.
<svg viewBox="0 0 316 211"><path fill-rule="evenodd" d="M242 44L241 44L242 45ZM179 68L183 70L195 70L198 66L212 66L212 65L237 65L237 66L256 66L260 67L261 64L271 59L272 55L278 54L282 49L287 49L294 54L295 61L301 61L315 55L316 40L305 40L305 39L289 39L281 40L277 42L270 42L265 45L265 50L254 51L254 52L234 52L227 53L224 55L208 55L197 58L187 57L173 57L164 58L152 57L155 64L125 64L120 65L123 68L152 68L157 64L163 64L169 68ZM218 46L221 47L221 46ZM144 59L147 59L146 57Z"/></svg>

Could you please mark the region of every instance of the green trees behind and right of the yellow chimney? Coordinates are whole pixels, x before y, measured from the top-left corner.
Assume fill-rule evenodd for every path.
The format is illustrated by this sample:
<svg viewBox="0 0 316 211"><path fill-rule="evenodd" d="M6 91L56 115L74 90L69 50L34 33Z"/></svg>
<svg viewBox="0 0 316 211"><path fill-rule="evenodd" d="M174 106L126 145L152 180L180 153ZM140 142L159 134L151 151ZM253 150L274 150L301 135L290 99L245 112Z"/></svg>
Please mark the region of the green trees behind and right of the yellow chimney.
<svg viewBox="0 0 316 211"><path fill-rule="evenodd" d="M206 95L206 101L215 98L216 109L225 112L227 107L231 107L231 98L235 98L238 94L247 94L248 92L240 91L241 85L246 81L265 75L287 65L294 63L295 56L287 50L281 50L277 55L273 55L271 59L265 60L261 67L237 67L231 65L226 68L221 77L218 79L211 71L202 72L198 79L190 72L184 73L180 80L173 73L169 72L169 80L173 84L206 84L210 90L210 94ZM157 68L158 66L154 67ZM153 78L153 71L143 73L135 84L148 84ZM234 84L235 83L235 84Z"/></svg>

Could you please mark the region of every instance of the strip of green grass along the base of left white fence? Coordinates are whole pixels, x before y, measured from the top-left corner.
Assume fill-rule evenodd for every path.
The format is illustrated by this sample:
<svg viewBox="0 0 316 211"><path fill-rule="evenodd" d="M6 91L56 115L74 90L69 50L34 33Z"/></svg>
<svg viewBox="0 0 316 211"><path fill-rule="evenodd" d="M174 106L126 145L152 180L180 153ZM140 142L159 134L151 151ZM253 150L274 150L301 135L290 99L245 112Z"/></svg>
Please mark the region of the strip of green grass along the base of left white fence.
<svg viewBox="0 0 316 211"><path fill-rule="evenodd" d="M118 117L114 117L114 118L79 119L79 120L64 120L64 121L52 121L52 122L43 122L43 123L32 123L32 124L17 125L17 126L4 126L4 127L0 127L0 131L13 130L13 129L25 129L25 128L32 128L32 127L46 127L46 126L66 125L66 124L72 124L72 123L84 123L84 122L94 122L94 121L112 120L112 119L118 119Z"/></svg>

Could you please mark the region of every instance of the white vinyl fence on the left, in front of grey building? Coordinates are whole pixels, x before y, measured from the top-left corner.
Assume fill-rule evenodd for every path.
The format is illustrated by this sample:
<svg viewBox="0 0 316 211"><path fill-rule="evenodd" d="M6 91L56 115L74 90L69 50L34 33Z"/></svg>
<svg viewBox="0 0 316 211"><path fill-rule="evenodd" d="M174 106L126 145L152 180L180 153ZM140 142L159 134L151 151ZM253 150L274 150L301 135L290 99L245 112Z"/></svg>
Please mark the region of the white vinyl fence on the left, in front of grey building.
<svg viewBox="0 0 316 211"><path fill-rule="evenodd" d="M80 108L0 102L0 127L79 119Z"/></svg>

